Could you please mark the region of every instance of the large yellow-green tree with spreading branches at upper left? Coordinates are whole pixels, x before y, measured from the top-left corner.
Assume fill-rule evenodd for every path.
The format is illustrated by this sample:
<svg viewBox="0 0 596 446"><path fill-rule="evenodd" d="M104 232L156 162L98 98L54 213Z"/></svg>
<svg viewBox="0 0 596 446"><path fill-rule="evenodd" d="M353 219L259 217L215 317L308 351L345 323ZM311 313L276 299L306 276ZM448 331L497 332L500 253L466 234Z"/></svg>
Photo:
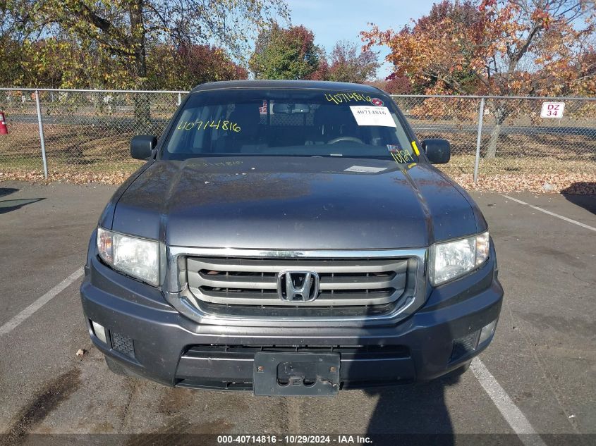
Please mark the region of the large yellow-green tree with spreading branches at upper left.
<svg viewBox="0 0 596 446"><path fill-rule="evenodd" d="M171 49L168 57L179 61L185 49L205 52L216 44L221 51L214 61L245 62L248 42L272 17L288 18L284 0L3 0L0 37L25 54L42 42L47 51L38 65L66 66L68 74L78 63L83 78L62 76L61 87L145 89L157 87L149 82L152 51L160 56ZM75 58L56 57L56 51ZM90 79L99 85L89 85Z"/></svg>

